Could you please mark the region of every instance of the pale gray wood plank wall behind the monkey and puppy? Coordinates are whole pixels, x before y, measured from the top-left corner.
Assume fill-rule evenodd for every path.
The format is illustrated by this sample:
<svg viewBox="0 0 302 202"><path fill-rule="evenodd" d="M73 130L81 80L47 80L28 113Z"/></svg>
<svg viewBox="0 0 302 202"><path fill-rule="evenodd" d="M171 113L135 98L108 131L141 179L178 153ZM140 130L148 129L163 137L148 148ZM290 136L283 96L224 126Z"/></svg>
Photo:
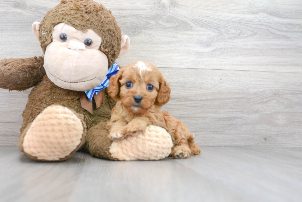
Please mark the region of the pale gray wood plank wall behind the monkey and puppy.
<svg viewBox="0 0 302 202"><path fill-rule="evenodd" d="M0 59L42 55L31 24L58 2L0 0ZM302 145L302 1L98 2L131 40L118 64L160 68L163 109L198 145ZM17 145L29 93L0 89L0 145Z"/></svg>

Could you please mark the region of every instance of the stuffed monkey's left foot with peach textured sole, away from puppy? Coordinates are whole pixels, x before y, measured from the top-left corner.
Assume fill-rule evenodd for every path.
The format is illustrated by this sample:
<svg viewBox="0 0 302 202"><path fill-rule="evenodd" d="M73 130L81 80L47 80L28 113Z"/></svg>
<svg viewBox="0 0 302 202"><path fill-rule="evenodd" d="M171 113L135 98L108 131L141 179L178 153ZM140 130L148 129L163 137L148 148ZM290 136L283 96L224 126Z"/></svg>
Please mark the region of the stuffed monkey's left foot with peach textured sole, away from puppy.
<svg viewBox="0 0 302 202"><path fill-rule="evenodd" d="M51 105L35 118L19 144L22 144L25 155L33 159L65 160L84 142L86 127L83 118L67 107Z"/></svg>

